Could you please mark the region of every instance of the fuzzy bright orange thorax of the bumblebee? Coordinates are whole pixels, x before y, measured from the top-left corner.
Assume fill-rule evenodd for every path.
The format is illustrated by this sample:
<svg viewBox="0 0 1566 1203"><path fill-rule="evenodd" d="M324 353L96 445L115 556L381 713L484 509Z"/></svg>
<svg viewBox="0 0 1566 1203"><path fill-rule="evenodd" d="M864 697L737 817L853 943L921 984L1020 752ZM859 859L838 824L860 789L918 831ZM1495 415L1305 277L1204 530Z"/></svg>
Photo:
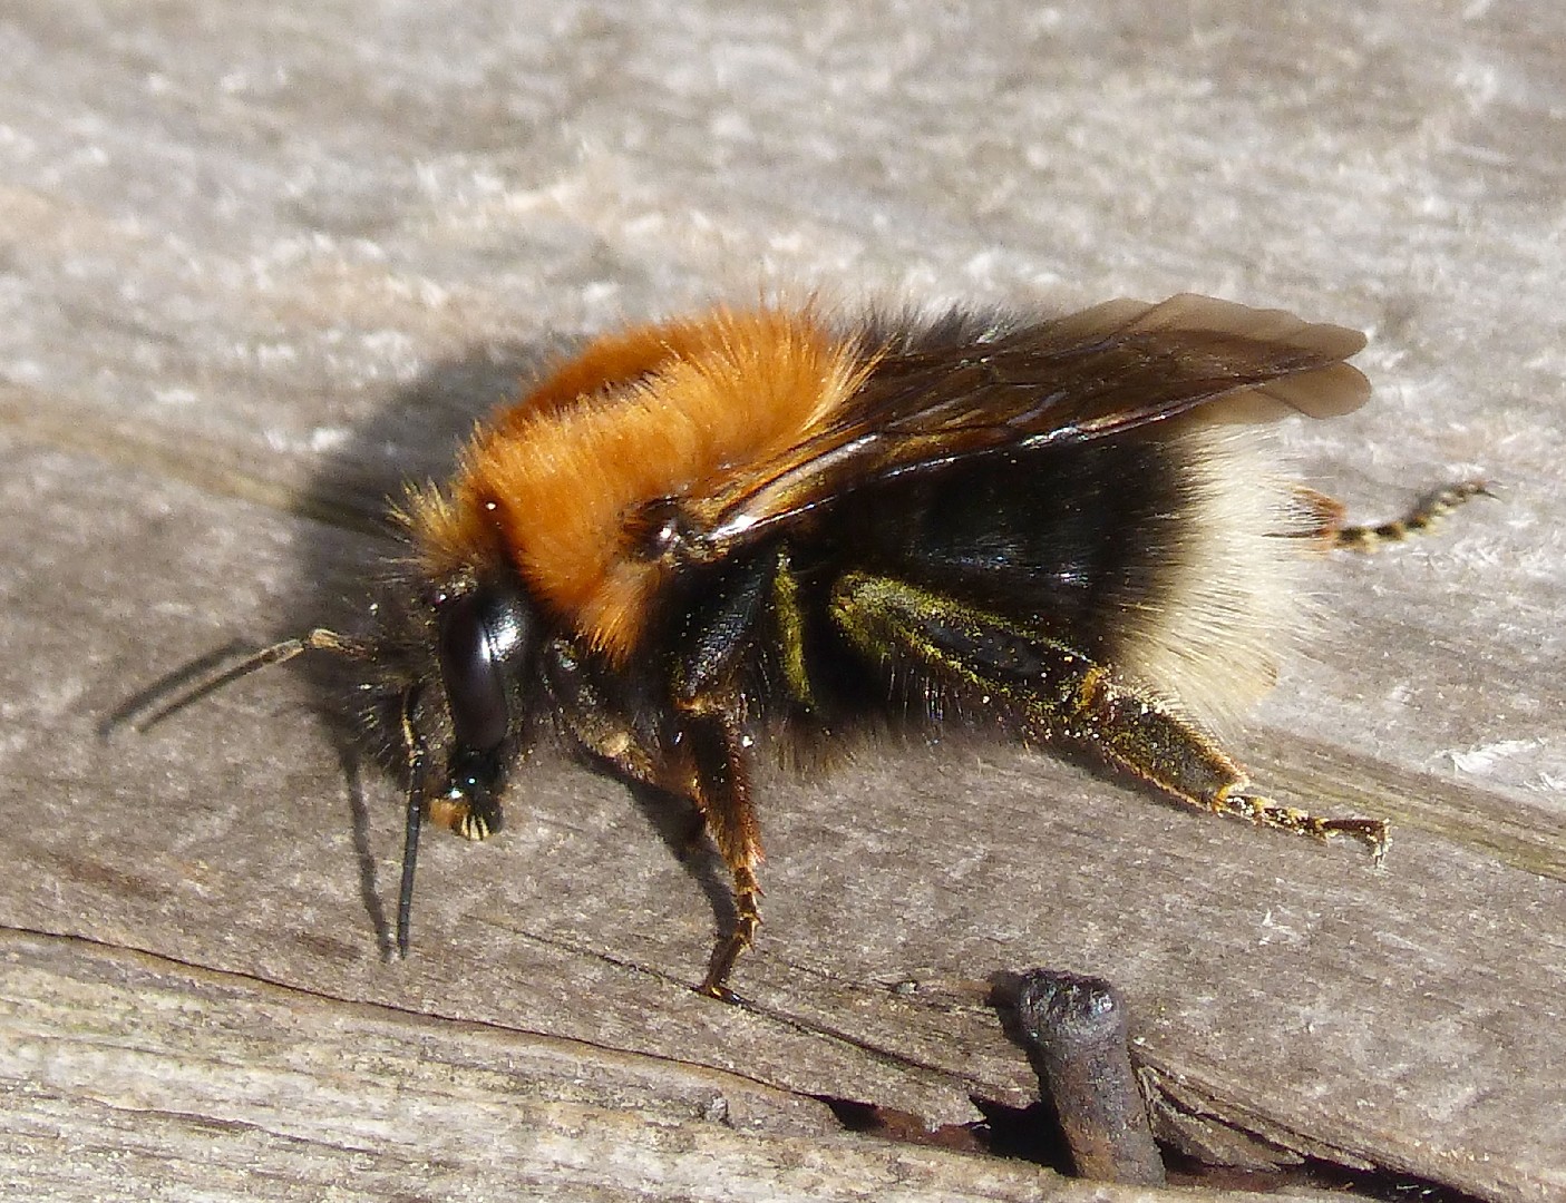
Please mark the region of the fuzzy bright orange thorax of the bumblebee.
<svg viewBox="0 0 1566 1203"><path fill-rule="evenodd" d="M479 427L445 491L415 493L424 569L509 560L534 601L612 662L636 648L666 566L633 519L703 499L819 433L868 355L810 310L714 310L600 338Z"/></svg>

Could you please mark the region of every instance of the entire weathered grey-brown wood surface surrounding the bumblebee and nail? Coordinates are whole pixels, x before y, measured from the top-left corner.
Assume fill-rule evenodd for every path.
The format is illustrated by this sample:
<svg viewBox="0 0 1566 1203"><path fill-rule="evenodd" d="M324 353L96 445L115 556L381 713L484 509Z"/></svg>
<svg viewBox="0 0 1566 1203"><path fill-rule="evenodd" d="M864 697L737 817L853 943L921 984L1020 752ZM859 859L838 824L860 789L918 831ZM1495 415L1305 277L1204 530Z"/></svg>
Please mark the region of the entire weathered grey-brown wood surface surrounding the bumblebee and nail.
<svg viewBox="0 0 1566 1203"><path fill-rule="evenodd" d="M1553 5L1416 0L0 8L0 1183L677 1195L650 1153L640 1195L567 1172L666 1115L716 1142L695 1197L830 1195L750 1139L849 1147L861 1197L904 1156L929 1197L1079 1197L808 1101L1026 1103L983 1000L1048 964L1124 990L1187 1139L1566 1195L1563 38ZM711 867L562 756L503 839L428 840L387 964L399 799L310 674L100 738L191 657L351 623L377 497L517 375L778 283L1196 289L1369 330L1372 405L1281 432L1301 477L1367 516L1474 472L1500 497L1323 563L1323 634L1231 745L1281 796L1391 817L1384 870L1016 749L868 746L763 782L766 926L723 1007L686 989ZM562 1047L636 1090L528 1098ZM420 1129L442 1058L464 1104ZM667 1081L622 1073L645 1058ZM689 1114L711 1075L755 1131Z"/></svg>

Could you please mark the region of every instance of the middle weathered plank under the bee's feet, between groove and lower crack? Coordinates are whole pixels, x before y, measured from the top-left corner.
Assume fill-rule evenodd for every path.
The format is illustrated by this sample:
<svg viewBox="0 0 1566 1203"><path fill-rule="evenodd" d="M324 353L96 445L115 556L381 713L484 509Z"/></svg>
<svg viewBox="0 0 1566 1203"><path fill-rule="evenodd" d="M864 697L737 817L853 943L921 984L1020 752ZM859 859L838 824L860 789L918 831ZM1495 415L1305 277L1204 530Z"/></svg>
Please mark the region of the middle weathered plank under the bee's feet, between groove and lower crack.
<svg viewBox="0 0 1566 1203"><path fill-rule="evenodd" d="M91 479L86 461L55 454L14 460L34 507L6 529L47 533L58 558L42 566L49 590L11 599L27 655L8 668L34 693L52 674L69 701L14 726L13 773L31 784L9 801L13 923L716 1065L932 1122L971 1115L971 1092L1030 1100L1026 1061L983 1004L983 981L1068 964L1121 984L1145 1061L1179 1086L1182 1103L1206 1098L1281 1148L1413 1173L1464 1148L1513 1150L1547 1175L1566 1139L1552 1126L1561 1112L1547 1072L1560 1031L1538 1022L1566 986L1566 959L1560 929L1530 921L1558 906L1558 881L1413 823L1378 873L1348 848L1184 815L982 745L871 749L828 781L766 782L775 799L770 921L741 978L747 1009L686 989L714 923L711 881L692 879L659 842L656 815L559 757L531 771L528 793L540 801L520 807L504 840L431 843L418 954L385 965L377 948L395 882L396 798L373 779L365 798L345 787L302 709L302 682L258 679L152 735L96 740L92 720L114 699L106 682L122 682L141 648L194 651L191 624L221 629L233 616L221 591L247 584L226 576L199 618L180 588L171 596L183 605L160 615L138 591L193 580L189 562L208 549L164 524L116 555L113 532L78 516L133 496L127 476L100 468ZM36 504L50 493L55 504ZM265 560L288 555L268 533L276 522L243 504L205 504L227 510L208 519L244 548L257 579L271 579ZM67 568L86 579L72 582ZM100 602L127 626L92 623ZM127 646L130 630L139 640ZM1294 756L1279 745L1279 777L1309 768ZM1339 760L1330 793L1361 809L1411 798L1417 818L1427 782L1377 771L1372 788ZM1301 781L1326 790L1330 777L1317 770ZM1483 823L1481 807L1466 813ZM1464 921L1474 915L1485 923ZM1475 997L1475 981L1491 986ZM1533 1078L1519 1070L1527 1065L1544 1072ZM1342 1087L1323 1089L1330 1067L1361 1095L1353 1123ZM1383 1079L1387 1067L1395 1073ZM1475 1081L1513 1089L1475 1095ZM1364 1111L1378 1117L1373 1126ZM1535 1125L1522 1139L1519 1114ZM1423 1133L1422 1156L1406 1151L1411 1131ZM1460 1165L1453 1178L1464 1173Z"/></svg>

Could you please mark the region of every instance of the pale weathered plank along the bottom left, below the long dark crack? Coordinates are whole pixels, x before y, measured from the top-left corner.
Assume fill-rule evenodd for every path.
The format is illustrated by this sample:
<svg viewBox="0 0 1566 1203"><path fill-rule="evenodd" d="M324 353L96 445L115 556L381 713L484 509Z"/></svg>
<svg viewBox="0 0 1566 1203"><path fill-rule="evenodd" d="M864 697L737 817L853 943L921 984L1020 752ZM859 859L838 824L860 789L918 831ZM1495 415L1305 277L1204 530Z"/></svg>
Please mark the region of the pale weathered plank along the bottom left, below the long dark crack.
<svg viewBox="0 0 1566 1203"><path fill-rule="evenodd" d="M733 1075L122 950L0 932L0 970L13 1198L1171 1198L847 1136Z"/></svg>

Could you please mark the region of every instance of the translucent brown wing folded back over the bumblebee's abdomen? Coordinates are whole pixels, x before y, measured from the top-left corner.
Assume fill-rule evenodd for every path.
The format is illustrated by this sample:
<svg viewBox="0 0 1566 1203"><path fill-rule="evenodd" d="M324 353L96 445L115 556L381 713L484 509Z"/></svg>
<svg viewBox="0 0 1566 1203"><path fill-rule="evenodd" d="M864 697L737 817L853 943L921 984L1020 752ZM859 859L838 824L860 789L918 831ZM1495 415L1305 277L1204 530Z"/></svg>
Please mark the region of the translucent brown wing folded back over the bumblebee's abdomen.
<svg viewBox="0 0 1566 1203"><path fill-rule="evenodd" d="M1112 435L1211 405L1214 421L1358 408L1344 360L1364 335L1182 294L1110 300L965 341L874 347L863 383L813 435L703 505L713 558L855 488L972 455Z"/></svg>

